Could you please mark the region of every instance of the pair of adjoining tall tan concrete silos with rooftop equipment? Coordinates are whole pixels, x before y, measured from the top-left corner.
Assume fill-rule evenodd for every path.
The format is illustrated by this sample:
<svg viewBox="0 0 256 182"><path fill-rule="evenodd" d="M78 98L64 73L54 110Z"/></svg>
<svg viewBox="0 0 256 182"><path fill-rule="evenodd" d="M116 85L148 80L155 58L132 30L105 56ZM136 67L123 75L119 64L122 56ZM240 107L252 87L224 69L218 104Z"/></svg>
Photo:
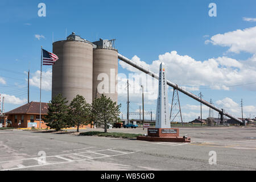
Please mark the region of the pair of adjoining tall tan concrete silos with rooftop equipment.
<svg viewBox="0 0 256 182"><path fill-rule="evenodd" d="M91 104L94 98L105 94L117 102L118 51L114 40L91 43L73 32L67 40L53 43L53 53L59 60L52 67L52 97L61 93L71 102L80 94ZM108 84L98 89L102 81Z"/></svg>

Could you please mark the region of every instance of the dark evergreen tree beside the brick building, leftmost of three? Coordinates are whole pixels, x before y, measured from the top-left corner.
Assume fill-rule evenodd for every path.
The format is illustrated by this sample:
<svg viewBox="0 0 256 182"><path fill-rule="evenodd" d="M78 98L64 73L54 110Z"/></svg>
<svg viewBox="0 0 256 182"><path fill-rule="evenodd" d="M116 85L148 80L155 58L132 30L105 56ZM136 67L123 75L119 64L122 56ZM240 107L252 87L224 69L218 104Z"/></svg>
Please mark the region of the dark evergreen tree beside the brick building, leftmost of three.
<svg viewBox="0 0 256 182"><path fill-rule="evenodd" d="M67 98L64 98L62 94L57 94L52 98L51 102L48 104L48 114L43 121L46 122L47 126L56 131L67 127Z"/></svg>

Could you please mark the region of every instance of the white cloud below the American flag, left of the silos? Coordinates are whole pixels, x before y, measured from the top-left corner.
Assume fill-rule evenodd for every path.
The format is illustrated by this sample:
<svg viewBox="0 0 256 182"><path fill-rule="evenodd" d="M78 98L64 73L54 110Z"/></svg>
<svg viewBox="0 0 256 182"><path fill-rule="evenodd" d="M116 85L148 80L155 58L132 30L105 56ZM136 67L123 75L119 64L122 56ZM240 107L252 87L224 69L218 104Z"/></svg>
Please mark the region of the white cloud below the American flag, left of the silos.
<svg viewBox="0 0 256 182"><path fill-rule="evenodd" d="M36 71L31 74L30 85L40 88L40 71ZM46 72L42 72L42 90L52 90L52 70L48 69Z"/></svg>

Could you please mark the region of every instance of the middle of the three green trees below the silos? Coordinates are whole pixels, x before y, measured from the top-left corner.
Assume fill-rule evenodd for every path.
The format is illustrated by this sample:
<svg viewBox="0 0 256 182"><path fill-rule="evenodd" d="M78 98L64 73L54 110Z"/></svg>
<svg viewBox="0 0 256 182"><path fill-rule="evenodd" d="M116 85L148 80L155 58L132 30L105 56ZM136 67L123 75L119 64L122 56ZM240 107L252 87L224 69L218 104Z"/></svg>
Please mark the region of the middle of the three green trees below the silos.
<svg viewBox="0 0 256 182"><path fill-rule="evenodd" d="M91 106L87 104L85 98L77 95L69 105L68 123L77 126L77 132L79 132L79 127L90 121L90 110Z"/></svg>

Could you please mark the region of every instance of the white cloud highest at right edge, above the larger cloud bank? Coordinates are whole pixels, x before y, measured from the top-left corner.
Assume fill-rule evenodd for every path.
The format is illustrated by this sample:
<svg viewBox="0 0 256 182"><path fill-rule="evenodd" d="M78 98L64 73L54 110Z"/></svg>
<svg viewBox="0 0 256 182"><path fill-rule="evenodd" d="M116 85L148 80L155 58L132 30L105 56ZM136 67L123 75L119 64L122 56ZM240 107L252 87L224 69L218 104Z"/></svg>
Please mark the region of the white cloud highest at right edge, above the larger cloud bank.
<svg viewBox="0 0 256 182"><path fill-rule="evenodd" d="M229 47L228 51L234 53L240 53L241 51L256 53L256 27L217 34L205 43Z"/></svg>

